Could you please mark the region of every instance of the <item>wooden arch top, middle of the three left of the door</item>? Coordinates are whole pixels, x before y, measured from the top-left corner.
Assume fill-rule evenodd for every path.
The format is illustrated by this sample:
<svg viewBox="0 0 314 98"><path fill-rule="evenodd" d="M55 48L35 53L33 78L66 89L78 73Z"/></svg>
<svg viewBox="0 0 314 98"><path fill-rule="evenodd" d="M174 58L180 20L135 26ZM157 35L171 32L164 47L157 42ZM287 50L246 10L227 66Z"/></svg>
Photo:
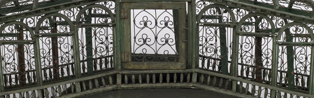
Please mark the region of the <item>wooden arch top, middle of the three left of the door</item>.
<svg viewBox="0 0 314 98"><path fill-rule="evenodd" d="M60 14L60 13L52 13L52 14L47 14L38 20L38 22L37 22L38 24L35 27L35 33L39 33L39 27L40 27L41 23L43 23L45 19L47 19L51 16L58 16L58 17L63 18L70 25L70 31L74 31L74 24L72 23L72 21L67 16Z"/></svg>

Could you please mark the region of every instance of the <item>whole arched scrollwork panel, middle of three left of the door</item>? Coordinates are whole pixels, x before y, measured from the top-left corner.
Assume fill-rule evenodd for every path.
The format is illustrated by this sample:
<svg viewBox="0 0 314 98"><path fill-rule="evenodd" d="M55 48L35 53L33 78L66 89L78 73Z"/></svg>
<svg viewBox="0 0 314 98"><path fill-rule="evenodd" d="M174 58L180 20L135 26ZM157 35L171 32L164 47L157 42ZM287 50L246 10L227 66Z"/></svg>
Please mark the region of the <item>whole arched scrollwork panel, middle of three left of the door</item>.
<svg viewBox="0 0 314 98"><path fill-rule="evenodd" d="M63 14L52 13L38 20L35 28L40 46L43 81L74 77L74 24Z"/></svg>

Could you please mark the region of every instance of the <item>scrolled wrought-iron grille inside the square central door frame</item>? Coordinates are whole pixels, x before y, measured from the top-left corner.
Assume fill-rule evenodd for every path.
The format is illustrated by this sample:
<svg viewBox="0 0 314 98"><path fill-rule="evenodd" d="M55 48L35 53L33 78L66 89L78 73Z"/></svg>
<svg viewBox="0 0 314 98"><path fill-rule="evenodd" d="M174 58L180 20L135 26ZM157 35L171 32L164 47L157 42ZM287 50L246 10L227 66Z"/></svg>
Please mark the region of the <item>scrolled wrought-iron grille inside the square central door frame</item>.
<svg viewBox="0 0 314 98"><path fill-rule="evenodd" d="M175 10L131 10L134 61L178 62Z"/></svg>

